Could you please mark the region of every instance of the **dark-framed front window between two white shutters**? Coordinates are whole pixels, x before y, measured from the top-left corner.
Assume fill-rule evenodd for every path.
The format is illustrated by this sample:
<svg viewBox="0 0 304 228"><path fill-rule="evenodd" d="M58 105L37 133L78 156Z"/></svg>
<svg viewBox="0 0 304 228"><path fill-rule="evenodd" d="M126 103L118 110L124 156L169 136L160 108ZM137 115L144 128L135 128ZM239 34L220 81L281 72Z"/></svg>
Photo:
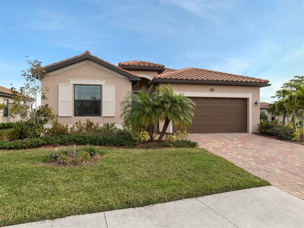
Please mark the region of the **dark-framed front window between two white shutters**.
<svg viewBox="0 0 304 228"><path fill-rule="evenodd" d="M74 86L74 116L101 116L101 86Z"/></svg>

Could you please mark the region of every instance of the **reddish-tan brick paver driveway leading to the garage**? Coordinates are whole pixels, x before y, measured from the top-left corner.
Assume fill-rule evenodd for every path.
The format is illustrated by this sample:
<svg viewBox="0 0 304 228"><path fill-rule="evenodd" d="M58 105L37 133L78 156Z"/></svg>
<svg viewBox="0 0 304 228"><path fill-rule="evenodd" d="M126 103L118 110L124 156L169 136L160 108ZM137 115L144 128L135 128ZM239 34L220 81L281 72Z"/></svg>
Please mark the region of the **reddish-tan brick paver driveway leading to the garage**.
<svg viewBox="0 0 304 228"><path fill-rule="evenodd" d="M304 146L247 133L190 134L189 138L200 148L304 199Z"/></svg>

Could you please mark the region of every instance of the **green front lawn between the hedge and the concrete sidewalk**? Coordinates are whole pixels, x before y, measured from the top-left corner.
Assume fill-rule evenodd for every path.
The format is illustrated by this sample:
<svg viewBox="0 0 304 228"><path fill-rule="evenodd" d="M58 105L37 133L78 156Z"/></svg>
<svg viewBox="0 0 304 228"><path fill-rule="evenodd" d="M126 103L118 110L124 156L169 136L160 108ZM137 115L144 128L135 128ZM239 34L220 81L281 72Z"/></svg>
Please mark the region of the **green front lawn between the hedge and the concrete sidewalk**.
<svg viewBox="0 0 304 228"><path fill-rule="evenodd" d="M269 185L204 149L97 148L85 167L45 164L54 148L0 151L0 226Z"/></svg>

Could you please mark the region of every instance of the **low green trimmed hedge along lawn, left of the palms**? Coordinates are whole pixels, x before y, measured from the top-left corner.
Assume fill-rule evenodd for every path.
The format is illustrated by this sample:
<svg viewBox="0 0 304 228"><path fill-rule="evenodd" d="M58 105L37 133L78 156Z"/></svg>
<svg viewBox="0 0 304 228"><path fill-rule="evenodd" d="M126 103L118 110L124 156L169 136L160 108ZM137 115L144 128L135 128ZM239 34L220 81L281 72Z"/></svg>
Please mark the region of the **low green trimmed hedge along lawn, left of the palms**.
<svg viewBox="0 0 304 228"><path fill-rule="evenodd" d="M0 149L29 149L47 145L95 145L95 146L136 146L130 135L118 135L114 137L99 138L97 135L59 135L52 137L44 135L34 139L15 140L12 142L0 142Z"/></svg>

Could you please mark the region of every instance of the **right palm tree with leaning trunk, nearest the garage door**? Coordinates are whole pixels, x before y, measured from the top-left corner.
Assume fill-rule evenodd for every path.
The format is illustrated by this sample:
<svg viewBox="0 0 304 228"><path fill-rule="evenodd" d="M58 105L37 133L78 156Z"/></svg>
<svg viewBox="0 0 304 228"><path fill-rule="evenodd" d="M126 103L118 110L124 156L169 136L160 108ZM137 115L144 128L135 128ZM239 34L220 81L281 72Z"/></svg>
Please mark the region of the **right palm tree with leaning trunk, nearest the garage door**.
<svg viewBox="0 0 304 228"><path fill-rule="evenodd" d="M159 142L163 139L171 121L175 126L178 126L180 123L181 127L187 127L192 124L192 117L194 116L193 106L195 106L195 103L188 97L185 97L184 94L175 94L171 84L161 88L157 87L156 90L158 92L157 100L161 102L159 119L164 121L164 127L157 139Z"/></svg>

